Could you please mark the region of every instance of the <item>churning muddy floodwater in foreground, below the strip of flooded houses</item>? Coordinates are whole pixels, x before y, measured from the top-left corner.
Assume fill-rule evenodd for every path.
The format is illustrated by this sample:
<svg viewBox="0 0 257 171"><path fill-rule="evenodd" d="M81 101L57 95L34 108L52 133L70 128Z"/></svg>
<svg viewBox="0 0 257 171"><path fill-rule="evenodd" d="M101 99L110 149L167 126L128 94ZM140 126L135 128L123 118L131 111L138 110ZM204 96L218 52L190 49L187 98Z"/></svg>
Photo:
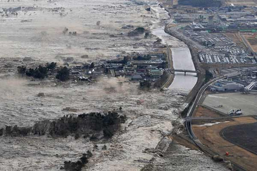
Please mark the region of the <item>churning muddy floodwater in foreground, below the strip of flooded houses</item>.
<svg viewBox="0 0 257 171"><path fill-rule="evenodd" d="M165 153L171 141L160 140L171 133L172 121L179 118L184 96L171 91L142 92L137 89L137 84L125 83L120 86L117 84L120 81L124 80L103 79L91 86L70 84L65 87L55 86L54 82L41 82L40 85L33 82L34 86L31 87L28 85L29 80L1 80L1 127L29 126L39 120L55 119L67 114L113 109L119 111L120 106L123 109L119 113L126 114L128 120L110 141L91 142L82 137L77 140L74 137L54 139L47 135L0 137L0 170L58 170L65 160L76 160L87 150L93 151L89 170L140 170L152 157L157 158L159 167L170 168L170 158L165 158L170 152L171 161L177 163L176 168L191 168L183 166L190 162L198 168L206 166L208 170L208 161L210 168L224 170L202 153L185 150L182 146L177 146L176 151ZM116 93L106 91L105 88L109 87L115 87ZM45 97L37 97L38 92L44 92ZM144 103L138 105L139 99L143 99ZM63 111L65 107L80 111ZM93 150L94 144L98 144L98 149ZM107 150L102 150L104 144ZM163 152L164 158L157 155L156 147ZM147 148L152 151L144 152ZM195 156L198 159L192 161ZM178 159L181 157L184 160Z"/></svg>

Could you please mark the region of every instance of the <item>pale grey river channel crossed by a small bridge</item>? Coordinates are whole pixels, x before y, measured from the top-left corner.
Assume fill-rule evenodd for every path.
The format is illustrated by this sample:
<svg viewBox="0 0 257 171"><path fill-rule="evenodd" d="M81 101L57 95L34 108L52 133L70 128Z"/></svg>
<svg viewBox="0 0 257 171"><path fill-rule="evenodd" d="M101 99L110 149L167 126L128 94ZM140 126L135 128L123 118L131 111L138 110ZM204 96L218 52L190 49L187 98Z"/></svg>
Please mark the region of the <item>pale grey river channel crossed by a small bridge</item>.
<svg viewBox="0 0 257 171"><path fill-rule="evenodd" d="M151 31L158 38L162 39L163 44L166 44L170 48L173 68L178 70L195 70L187 45L164 31L165 24L173 23L173 20L169 19L168 12L157 5L152 5L151 8L157 14L156 16L159 17L159 20L153 24ZM163 22L163 20L165 21ZM186 73L184 75L184 72L175 72L174 80L168 89L189 93L196 82L196 73Z"/></svg>

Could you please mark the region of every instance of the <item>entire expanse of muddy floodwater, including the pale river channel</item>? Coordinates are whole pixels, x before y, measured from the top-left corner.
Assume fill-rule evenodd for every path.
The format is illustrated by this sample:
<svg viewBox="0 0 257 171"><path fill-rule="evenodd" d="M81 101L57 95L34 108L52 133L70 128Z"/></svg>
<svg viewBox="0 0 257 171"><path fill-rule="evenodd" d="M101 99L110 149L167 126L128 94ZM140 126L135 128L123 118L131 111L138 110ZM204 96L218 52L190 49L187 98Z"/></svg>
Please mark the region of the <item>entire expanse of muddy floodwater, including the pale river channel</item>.
<svg viewBox="0 0 257 171"><path fill-rule="evenodd" d="M152 10L146 11L148 7ZM5 13L6 9L9 10ZM16 9L15 13L12 9ZM124 78L103 78L84 85L60 84L50 79L31 81L18 77L16 68L10 69L13 65L29 67L29 64L52 61L60 66L67 57L74 58L76 63L152 52L156 50L154 41L159 37L164 44L172 46L175 69L185 66L193 70L185 44L163 34L169 19L157 1L4 0L0 2L0 12L1 128L28 127L63 115L113 110L128 118L108 141L90 141L83 137L75 140L73 136L1 136L0 171L60 170L65 160L77 161L87 150L92 151L93 157L83 170L89 171L139 171L150 160L155 161L155 170L227 170L202 152L174 144L168 138L183 110L186 97L180 92L190 91L197 79L194 74L181 77L175 74L171 87L186 84L182 89L145 92L138 90L138 83ZM127 33L134 28L123 28L127 25L144 27L155 36L128 37ZM68 32L64 34L65 27ZM81 58L82 55L88 58ZM24 62L25 57L30 57L31 63ZM108 91L110 87L112 92ZM38 97L39 92L45 96ZM78 111L63 110L66 107ZM94 148L95 144L98 148ZM107 150L102 150L104 145Z"/></svg>

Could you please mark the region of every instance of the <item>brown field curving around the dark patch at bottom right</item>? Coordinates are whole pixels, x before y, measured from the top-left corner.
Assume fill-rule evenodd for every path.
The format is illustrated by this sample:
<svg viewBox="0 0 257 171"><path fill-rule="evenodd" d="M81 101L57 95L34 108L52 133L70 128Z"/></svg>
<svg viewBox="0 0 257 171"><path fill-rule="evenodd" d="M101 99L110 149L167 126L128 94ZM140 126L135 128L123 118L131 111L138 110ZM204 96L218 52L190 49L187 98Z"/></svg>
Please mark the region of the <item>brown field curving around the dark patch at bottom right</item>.
<svg viewBox="0 0 257 171"><path fill-rule="evenodd" d="M250 171L256 171L257 155L226 141L220 136L222 129L246 123L256 123L256 119L253 117L238 117L234 118L234 121L217 123L211 126L207 126L206 124L193 125L192 128L195 135L205 146L208 146L221 156L240 164ZM235 136L236 135L241 136L240 134L235 134ZM229 156L225 156L226 151L229 152Z"/></svg>

